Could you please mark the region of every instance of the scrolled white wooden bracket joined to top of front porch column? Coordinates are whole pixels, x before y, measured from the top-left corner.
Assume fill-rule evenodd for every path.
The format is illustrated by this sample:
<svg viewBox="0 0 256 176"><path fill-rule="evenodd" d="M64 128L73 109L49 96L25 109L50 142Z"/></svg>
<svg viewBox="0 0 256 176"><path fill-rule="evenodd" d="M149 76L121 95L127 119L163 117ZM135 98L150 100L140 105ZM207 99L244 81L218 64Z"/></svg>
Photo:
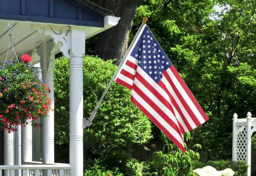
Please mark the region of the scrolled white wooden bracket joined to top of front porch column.
<svg viewBox="0 0 256 176"><path fill-rule="evenodd" d="M70 47L71 47L71 37L70 37L70 27L62 25L49 25L49 24L31 24L31 27L37 30L39 33L45 35L50 35L53 38L55 44L61 44L59 50L62 54L70 58Z"/></svg>

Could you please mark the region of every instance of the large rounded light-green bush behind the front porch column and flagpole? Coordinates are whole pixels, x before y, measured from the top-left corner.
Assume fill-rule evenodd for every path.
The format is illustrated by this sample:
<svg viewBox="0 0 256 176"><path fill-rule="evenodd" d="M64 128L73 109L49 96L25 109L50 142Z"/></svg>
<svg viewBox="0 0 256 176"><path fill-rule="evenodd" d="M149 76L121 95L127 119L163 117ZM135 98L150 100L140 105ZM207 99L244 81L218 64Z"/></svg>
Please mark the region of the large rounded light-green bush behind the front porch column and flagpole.
<svg viewBox="0 0 256 176"><path fill-rule="evenodd" d="M112 60L94 56L85 56L83 62L84 118L88 119L117 66ZM69 59L56 60L54 83L56 156L60 156L56 158L64 160L69 154ZM143 145L151 137L151 122L130 101L130 90L113 82L92 125L84 130L85 166L96 158L102 166L124 171L132 156L132 145Z"/></svg>

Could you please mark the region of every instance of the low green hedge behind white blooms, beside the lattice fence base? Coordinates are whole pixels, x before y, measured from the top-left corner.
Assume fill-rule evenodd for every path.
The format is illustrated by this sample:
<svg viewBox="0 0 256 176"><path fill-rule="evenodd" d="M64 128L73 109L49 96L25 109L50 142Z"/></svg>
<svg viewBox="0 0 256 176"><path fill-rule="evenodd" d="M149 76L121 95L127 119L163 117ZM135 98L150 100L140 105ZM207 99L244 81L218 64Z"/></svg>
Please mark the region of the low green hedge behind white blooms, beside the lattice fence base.
<svg viewBox="0 0 256 176"><path fill-rule="evenodd" d="M203 162L196 162L196 168L203 168L205 166L212 166L216 170L224 170L226 168L230 168L234 171L234 176L247 176L247 168L248 165L245 161L225 161L225 160L218 160L218 161L208 161L206 163Z"/></svg>

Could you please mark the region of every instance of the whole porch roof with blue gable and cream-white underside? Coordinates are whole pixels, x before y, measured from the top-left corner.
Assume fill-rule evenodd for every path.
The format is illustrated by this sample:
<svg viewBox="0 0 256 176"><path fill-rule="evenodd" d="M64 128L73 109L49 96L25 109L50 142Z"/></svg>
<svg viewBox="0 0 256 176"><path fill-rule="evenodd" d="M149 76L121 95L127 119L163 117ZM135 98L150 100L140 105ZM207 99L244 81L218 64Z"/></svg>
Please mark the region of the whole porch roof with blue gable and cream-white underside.
<svg viewBox="0 0 256 176"><path fill-rule="evenodd" d="M52 35L44 34L45 25L49 26L54 35L63 36L65 33L63 37L66 35L67 38L70 30L65 26L80 26L88 39L115 26L119 19L113 12L89 0L0 0L0 61L5 58L10 41L8 23L12 26L11 38L20 57L36 51L40 43L54 39ZM42 28L33 27L35 24ZM63 46L63 42L54 42L57 47L52 52L56 54L60 52L59 48ZM69 57L67 52L65 54L62 51ZM12 48L8 52L8 58L15 58ZM34 58L32 64L38 63L39 60L39 57Z"/></svg>

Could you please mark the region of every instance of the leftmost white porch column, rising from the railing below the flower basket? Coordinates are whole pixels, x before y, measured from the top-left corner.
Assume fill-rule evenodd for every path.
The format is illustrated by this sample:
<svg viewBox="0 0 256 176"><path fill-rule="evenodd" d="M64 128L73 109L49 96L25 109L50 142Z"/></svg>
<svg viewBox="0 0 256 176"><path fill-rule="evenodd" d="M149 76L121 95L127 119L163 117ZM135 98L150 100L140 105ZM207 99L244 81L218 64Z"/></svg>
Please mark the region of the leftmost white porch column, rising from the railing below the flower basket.
<svg viewBox="0 0 256 176"><path fill-rule="evenodd" d="M13 165L13 132L4 130L4 165ZM9 170L4 170L4 176L9 176Z"/></svg>

